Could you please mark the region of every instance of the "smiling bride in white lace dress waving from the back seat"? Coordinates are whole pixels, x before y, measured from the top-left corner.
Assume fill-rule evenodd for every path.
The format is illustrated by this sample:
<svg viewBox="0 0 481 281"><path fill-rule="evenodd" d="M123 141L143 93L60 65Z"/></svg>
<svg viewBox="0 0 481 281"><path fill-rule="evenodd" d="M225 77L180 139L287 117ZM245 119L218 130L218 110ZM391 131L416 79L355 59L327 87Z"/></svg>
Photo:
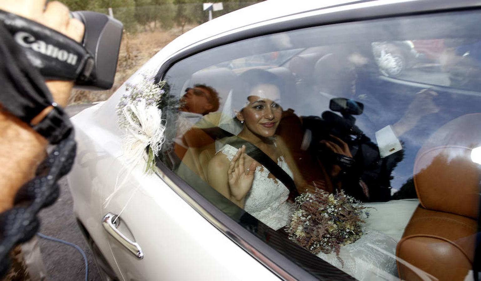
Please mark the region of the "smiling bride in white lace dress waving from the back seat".
<svg viewBox="0 0 481 281"><path fill-rule="evenodd" d="M228 108L231 103L234 104L233 108L240 108L235 112L234 118L227 114L228 119L235 122L234 126L227 126L230 128L228 130L259 148L291 176L298 190L305 190L306 183L287 145L276 135L282 116L282 107L279 104L281 87L277 86L277 77L264 70L248 70L241 78L249 82L246 86L248 91L243 96L230 96L226 101L225 107ZM235 98L239 103L237 106L230 101ZM229 110L225 108L223 111L225 113ZM232 129L236 126L239 127L237 131ZM222 125L219 127L222 128ZM338 141L323 140L324 144L336 153L352 157L347 144L333 138ZM289 189L266 167L247 155L244 145L237 149L228 144L228 140L223 143L224 146L209 162L209 184L270 228L279 230L286 226L291 219L293 208L293 204L288 201ZM337 168L339 170L339 167ZM334 172L331 171L331 175ZM368 280L373 277L366 274L369 266L376 271L375 275L379 275L379 272L396 275L395 260L392 259L396 241L376 231L363 231L364 236L360 240L342 246L340 257L344 259L345 266L339 264L335 253L320 253L318 256L358 279ZM372 246L377 249L372 250Z"/></svg>

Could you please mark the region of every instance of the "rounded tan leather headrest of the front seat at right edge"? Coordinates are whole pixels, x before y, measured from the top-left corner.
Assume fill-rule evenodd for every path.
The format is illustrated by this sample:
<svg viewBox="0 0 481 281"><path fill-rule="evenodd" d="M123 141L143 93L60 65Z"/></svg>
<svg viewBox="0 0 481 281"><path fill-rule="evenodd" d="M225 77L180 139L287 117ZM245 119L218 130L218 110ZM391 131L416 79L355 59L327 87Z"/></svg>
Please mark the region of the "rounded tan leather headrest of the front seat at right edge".
<svg viewBox="0 0 481 281"><path fill-rule="evenodd" d="M480 164L471 159L481 146L481 114L458 117L434 132L414 164L414 184L421 205L476 219Z"/></svg>

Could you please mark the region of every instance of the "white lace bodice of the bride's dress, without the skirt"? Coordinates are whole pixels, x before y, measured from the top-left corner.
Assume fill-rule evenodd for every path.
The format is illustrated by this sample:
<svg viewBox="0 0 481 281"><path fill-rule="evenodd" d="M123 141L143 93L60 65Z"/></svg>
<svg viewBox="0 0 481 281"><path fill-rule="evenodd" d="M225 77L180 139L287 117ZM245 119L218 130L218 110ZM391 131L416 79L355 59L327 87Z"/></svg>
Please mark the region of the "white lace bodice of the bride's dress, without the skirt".
<svg viewBox="0 0 481 281"><path fill-rule="evenodd" d="M232 161L238 149L226 144L220 151L229 161ZM283 156L278 158L277 164L293 177ZM291 219L292 206L287 202L289 189L281 181L268 176L269 170L264 166L256 167L251 190L245 199L244 210L270 228L278 230L287 225Z"/></svg>

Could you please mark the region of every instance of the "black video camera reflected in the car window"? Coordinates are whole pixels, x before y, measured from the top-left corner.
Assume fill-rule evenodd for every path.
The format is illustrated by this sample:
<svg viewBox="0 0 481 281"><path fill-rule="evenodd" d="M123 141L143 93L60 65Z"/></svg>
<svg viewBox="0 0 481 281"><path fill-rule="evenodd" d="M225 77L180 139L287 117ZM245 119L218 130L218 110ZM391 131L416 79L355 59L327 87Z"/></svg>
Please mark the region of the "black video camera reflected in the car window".
<svg viewBox="0 0 481 281"><path fill-rule="evenodd" d="M378 146L355 125L353 115L363 113L364 105L351 99L334 98L329 109L322 117L303 117L306 132L304 140L309 139L307 149L316 155L318 161L328 170L338 165L342 171L335 182L342 183L346 194L360 201L387 201L391 199L391 173L402 160L404 152L380 158ZM334 113L339 112L341 115ZM352 157L333 152L324 140L343 146L345 142ZM303 142L304 146L304 142ZM362 183L362 184L361 184Z"/></svg>

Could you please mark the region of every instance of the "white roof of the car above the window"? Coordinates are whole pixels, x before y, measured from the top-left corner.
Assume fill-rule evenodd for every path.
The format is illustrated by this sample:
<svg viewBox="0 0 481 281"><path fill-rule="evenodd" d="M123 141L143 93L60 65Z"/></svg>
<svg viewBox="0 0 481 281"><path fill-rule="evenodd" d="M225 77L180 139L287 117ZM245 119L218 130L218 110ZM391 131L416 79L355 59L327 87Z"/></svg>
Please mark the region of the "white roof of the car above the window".
<svg viewBox="0 0 481 281"><path fill-rule="evenodd" d="M394 4L393 6L396 9L389 8L391 4ZM269 23L282 22L285 18L302 18L301 14L312 16L322 13L323 10L331 12L348 11L347 6L367 8L364 12L353 10L343 14L343 17L347 17L346 19L358 20L379 15L395 15L398 12L402 14L402 11L412 14L467 8L480 6L480 2L479 0L266 0L229 12L193 28L170 42L158 55L164 58L169 57L187 51L190 47L214 41L216 38L228 37L229 34L241 30L245 31L254 27L266 26ZM371 10L371 8L376 9Z"/></svg>

